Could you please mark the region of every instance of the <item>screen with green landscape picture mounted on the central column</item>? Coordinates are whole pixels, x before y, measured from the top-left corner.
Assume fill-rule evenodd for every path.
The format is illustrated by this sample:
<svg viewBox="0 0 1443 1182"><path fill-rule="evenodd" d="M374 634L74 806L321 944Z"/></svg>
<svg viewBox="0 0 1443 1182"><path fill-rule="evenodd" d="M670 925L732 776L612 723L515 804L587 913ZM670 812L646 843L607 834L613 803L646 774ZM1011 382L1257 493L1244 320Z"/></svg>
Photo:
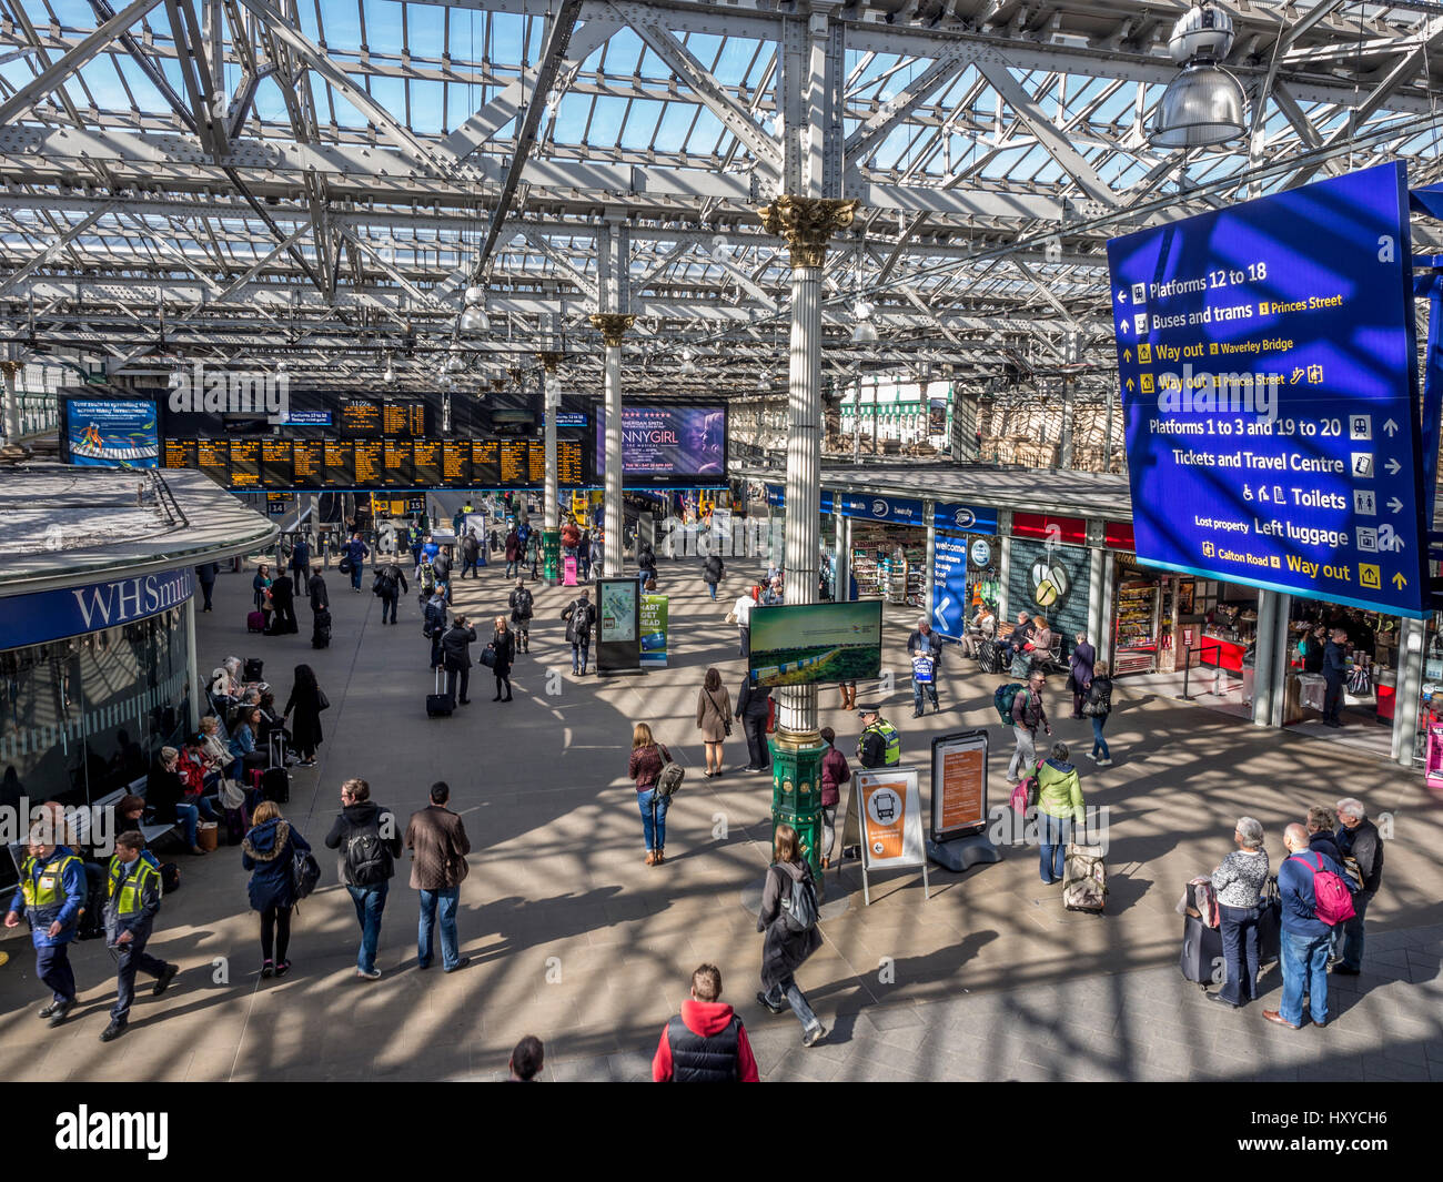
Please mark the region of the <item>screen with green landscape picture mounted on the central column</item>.
<svg viewBox="0 0 1443 1182"><path fill-rule="evenodd" d="M752 609L758 686L814 686L882 673L882 600Z"/></svg>

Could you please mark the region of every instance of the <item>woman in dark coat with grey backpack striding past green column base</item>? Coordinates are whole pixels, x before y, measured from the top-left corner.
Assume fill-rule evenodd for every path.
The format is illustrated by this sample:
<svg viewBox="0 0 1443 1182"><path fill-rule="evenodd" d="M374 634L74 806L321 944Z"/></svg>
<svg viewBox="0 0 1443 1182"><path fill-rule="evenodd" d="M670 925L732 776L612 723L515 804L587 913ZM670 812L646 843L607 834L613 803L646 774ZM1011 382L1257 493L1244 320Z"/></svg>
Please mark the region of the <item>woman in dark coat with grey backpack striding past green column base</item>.
<svg viewBox="0 0 1443 1182"><path fill-rule="evenodd" d="M772 846L772 866L762 888L762 911L756 929L765 932L762 941L762 986L756 994L772 1013L786 1006L802 1023L802 1046L825 1038L827 1028L812 1013L807 994L797 987L797 970L821 947L817 931L817 886L811 866L801 853L797 830L788 824L776 827Z"/></svg>

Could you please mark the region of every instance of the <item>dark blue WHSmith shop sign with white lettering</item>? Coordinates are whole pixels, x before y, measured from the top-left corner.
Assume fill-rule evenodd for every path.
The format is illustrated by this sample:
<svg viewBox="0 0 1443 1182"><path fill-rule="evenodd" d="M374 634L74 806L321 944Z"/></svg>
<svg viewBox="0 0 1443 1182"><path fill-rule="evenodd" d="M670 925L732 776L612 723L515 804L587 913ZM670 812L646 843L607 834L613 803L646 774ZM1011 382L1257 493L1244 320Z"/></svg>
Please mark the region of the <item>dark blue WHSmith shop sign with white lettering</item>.
<svg viewBox="0 0 1443 1182"><path fill-rule="evenodd" d="M100 632L179 608L195 595L195 569L139 574L84 587L0 599L0 648Z"/></svg>

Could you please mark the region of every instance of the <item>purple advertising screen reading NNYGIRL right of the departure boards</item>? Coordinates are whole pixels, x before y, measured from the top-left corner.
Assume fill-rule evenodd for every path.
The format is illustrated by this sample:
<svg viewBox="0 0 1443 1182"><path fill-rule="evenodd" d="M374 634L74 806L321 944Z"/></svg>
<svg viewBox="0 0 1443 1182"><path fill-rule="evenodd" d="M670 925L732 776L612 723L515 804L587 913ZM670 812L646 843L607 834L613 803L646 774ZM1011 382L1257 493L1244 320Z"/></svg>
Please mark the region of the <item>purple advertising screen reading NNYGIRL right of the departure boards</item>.
<svg viewBox="0 0 1443 1182"><path fill-rule="evenodd" d="M622 407L626 486L726 483L726 404L628 403ZM606 408L596 411L596 472L606 472Z"/></svg>

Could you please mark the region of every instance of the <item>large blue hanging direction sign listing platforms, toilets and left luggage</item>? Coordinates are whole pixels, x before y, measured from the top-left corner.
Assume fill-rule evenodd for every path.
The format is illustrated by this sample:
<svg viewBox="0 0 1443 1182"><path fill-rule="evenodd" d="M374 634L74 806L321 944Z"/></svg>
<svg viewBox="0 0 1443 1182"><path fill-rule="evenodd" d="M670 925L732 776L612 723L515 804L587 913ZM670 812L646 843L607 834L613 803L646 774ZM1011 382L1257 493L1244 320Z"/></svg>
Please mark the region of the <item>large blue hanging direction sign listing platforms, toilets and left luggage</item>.
<svg viewBox="0 0 1443 1182"><path fill-rule="evenodd" d="M1424 616L1405 167L1107 255L1137 557Z"/></svg>

